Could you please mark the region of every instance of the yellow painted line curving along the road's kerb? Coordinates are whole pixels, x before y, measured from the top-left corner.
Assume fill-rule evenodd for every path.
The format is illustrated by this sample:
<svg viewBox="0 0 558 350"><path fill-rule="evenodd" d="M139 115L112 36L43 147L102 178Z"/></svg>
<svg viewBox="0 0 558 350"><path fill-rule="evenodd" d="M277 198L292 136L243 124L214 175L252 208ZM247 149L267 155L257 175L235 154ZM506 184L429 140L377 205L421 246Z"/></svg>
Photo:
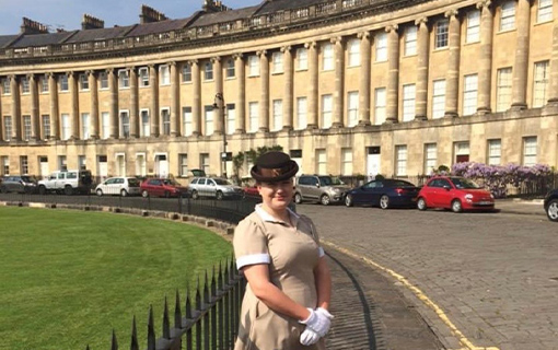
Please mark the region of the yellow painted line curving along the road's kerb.
<svg viewBox="0 0 558 350"><path fill-rule="evenodd" d="M371 266L373 266L373 267L375 267L375 268L386 272L387 275L392 276L397 281L399 281L407 289L409 289L420 301L422 301L428 307L430 307L432 311L435 312L438 317L447 326L447 328L450 328L451 332L457 338L460 343L465 347L463 349L456 349L456 350L500 350L497 347L488 347L488 348L475 347L467 339L467 337L465 337L465 335L460 329L457 329L457 327L450 320L450 317L447 317L447 315L443 312L443 310L440 306L438 306L432 300L430 300L430 298L428 298L419 288L417 288L416 285L411 284L404 276L395 272L392 269L383 267L380 264L374 262L374 261L372 261L371 259L369 259L367 257L360 256L360 255L358 255L358 254L356 254L356 253L353 253L353 252L351 252L351 250L349 250L347 248L340 247L340 246L338 246L335 243L332 243L332 242L328 242L328 241L325 241L325 240L321 240L321 243L324 244L324 245L328 245L328 246L330 246L330 247L333 247L333 248L335 248L335 249L337 249L337 250L339 250L341 253L345 253L345 254L347 254L347 255L349 255L349 256L351 256L353 258L364 260L364 262L367 262L368 265L371 265Z"/></svg>

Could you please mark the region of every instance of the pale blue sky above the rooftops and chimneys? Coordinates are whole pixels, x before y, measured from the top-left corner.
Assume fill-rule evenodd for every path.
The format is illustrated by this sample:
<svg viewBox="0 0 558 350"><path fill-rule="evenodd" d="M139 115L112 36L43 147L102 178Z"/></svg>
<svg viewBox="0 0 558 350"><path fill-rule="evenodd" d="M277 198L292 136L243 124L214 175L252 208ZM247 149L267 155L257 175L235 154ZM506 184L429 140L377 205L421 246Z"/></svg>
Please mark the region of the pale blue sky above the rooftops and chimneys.
<svg viewBox="0 0 558 350"><path fill-rule="evenodd" d="M239 9L260 3L263 0L223 0L230 8ZM51 31L81 28L84 13L105 21L105 27L139 23L141 4L163 12L171 19L184 19L201 10L204 0L0 0L0 35L20 33L22 18L49 25Z"/></svg>

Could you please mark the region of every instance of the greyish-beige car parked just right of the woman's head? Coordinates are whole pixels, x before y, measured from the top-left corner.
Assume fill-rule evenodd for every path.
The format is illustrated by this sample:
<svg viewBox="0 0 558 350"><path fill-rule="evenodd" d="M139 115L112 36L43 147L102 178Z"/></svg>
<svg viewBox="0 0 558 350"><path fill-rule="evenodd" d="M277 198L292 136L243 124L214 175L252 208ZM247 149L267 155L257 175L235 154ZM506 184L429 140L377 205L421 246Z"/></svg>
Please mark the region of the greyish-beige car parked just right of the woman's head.
<svg viewBox="0 0 558 350"><path fill-rule="evenodd" d="M294 202L317 201L324 206L341 202L350 187L329 175L301 175L294 187Z"/></svg>

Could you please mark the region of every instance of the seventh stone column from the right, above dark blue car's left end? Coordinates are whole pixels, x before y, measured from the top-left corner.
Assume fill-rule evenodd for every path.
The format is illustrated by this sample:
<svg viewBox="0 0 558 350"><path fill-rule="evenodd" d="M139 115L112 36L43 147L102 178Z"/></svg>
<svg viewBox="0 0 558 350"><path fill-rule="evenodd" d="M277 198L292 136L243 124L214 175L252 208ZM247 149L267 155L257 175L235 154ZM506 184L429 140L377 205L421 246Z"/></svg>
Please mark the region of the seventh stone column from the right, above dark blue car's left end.
<svg viewBox="0 0 558 350"><path fill-rule="evenodd" d="M360 88L359 88L359 125L370 125L370 80L371 80L371 45L370 32L358 34L360 39Z"/></svg>

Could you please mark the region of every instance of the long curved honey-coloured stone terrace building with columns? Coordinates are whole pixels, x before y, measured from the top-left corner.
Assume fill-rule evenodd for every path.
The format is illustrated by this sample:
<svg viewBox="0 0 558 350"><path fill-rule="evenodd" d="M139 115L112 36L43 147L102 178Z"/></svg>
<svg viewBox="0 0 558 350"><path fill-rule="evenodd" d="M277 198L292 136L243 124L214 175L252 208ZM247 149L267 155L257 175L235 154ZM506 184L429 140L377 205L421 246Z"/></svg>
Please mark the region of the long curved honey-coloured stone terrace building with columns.
<svg viewBox="0 0 558 350"><path fill-rule="evenodd" d="M304 173L557 166L557 8L206 0L188 19L143 8L140 24L85 15L58 33L24 19L0 36L0 173L231 175L224 147L276 144Z"/></svg>

